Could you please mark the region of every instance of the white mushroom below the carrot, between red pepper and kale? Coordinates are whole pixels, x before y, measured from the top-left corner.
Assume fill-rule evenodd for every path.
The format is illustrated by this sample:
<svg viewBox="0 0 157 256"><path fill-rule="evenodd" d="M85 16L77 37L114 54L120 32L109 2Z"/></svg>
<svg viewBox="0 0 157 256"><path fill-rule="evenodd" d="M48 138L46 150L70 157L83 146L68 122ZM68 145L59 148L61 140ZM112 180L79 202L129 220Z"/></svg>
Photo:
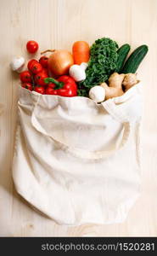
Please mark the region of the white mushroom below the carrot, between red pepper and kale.
<svg viewBox="0 0 157 256"><path fill-rule="evenodd" d="M85 70L87 69L87 63L82 62L81 65L72 65L70 67L70 77L75 79L76 82L80 82L86 79Z"/></svg>

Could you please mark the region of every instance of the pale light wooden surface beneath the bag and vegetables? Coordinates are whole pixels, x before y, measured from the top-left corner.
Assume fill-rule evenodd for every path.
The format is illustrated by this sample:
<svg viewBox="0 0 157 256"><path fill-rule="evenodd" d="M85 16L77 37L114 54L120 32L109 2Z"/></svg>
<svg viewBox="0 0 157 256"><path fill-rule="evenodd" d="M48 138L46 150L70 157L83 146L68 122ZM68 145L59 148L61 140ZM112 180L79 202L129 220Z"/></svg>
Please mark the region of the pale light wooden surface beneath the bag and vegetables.
<svg viewBox="0 0 157 256"><path fill-rule="evenodd" d="M157 236L157 0L0 0L0 236ZM114 38L132 49L149 45L138 70L143 80L142 195L123 224L59 226L36 213L14 191L11 165L17 122L18 76L14 55L34 39L40 49L71 49L76 40L93 44ZM126 170L127 172L127 170Z"/></svg>

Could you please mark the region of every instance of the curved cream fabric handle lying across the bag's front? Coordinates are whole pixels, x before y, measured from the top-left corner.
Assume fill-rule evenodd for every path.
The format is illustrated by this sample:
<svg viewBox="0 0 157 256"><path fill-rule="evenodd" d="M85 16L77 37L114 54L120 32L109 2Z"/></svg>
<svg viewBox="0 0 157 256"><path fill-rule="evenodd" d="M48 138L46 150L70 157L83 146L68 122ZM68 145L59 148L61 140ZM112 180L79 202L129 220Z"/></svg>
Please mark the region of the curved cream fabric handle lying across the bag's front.
<svg viewBox="0 0 157 256"><path fill-rule="evenodd" d="M35 108L39 102L39 99L40 99L40 96L38 97L37 99L37 102L35 104ZM112 101L107 101L108 104L102 104L103 107L113 116L117 119L117 113L116 111L114 111L114 108L113 108L113 103ZM110 104L110 107L109 108L109 104ZM105 106L106 105L106 106ZM34 108L34 110L35 110ZM76 147L71 147L70 145L67 145L65 143L62 143L60 142L58 139L50 136L43 128L42 126L37 122L36 120L36 116L35 116L35 111L33 111L32 115L31 115L31 124L33 125L33 127L41 132L42 134L44 134L45 136L48 136L48 137L51 137L53 139L53 142L54 143L57 143L59 148L62 148L62 150L66 151L66 152L69 152L70 154L76 156L76 157L79 157L79 158L82 158L82 159L88 159L88 160L98 160L98 159L103 159L103 158L106 158L106 157L109 157L110 155L112 154L115 154L117 151L121 150L121 148L123 148L129 137L130 137L130 133L131 133L131 123L129 121L122 121L121 119L121 116L119 115L118 119L120 120L121 119L121 123L123 125L123 135L121 137L121 143L119 144L119 147L115 147L114 149L112 150L102 150L102 151L87 151L86 149L83 149L83 148L76 148Z"/></svg>

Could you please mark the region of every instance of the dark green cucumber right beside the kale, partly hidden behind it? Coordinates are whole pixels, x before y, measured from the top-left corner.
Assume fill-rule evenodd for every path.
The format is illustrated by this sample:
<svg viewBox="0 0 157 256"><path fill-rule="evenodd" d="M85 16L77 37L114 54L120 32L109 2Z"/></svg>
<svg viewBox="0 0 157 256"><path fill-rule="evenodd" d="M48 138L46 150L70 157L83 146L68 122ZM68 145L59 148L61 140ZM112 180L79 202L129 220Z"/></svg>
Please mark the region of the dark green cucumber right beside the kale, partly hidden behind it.
<svg viewBox="0 0 157 256"><path fill-rule="evenodd" d="M131 49L129 44L123 44L118 50L118 61L117 61L117 67L116 72L121 73L122 67L124 66L124 62L126 61L126 56L129 53L129 50Z"/></svg>

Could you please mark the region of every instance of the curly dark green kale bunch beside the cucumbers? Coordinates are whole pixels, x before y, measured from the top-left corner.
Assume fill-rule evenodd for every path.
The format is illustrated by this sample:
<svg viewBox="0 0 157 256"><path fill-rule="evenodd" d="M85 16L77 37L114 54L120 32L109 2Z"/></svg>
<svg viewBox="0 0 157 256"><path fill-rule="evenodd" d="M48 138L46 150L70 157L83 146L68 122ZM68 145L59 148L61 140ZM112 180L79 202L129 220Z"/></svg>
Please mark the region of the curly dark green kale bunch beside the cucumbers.
<svg viewBox="0 0 157 256"><path fill-rule="evenodd" d="M88 96L88 91L94 86L105 82L117 65L118 44L110 38L100 38L95 41L90 50L90 61L86 70L87 78L78 84L78 95Z"/></svg>

